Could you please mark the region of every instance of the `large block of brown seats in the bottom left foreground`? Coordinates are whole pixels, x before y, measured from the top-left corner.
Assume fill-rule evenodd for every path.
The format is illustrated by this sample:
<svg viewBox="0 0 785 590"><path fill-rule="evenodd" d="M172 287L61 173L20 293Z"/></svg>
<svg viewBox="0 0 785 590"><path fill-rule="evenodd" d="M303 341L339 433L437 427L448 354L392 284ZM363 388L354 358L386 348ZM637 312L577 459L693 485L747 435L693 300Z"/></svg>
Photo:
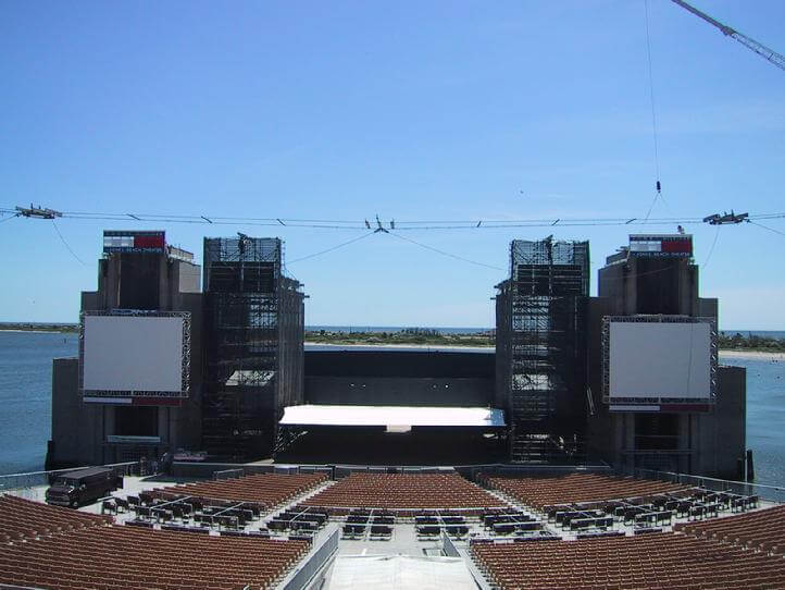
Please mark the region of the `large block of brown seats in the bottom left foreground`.
<svg viewBox="0 0 785 590"><path fill-rule="evenodd" d="M41 506L55 515L57 508ZM4 514L0 508L0 520ZM308 541L95 526L3 545L0 583L95 590L272 588L309 548Z"/></svg>

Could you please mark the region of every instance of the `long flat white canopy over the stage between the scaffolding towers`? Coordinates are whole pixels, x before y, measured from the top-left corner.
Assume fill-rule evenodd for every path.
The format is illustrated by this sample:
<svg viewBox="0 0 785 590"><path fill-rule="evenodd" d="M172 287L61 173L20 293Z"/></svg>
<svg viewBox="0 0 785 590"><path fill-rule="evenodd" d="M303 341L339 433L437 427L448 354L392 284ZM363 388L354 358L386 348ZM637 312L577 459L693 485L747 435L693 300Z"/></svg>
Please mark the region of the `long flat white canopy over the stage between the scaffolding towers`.
<svg viewBox="0 0 785 590"><path fill-rule="evenodd" d="M504 413L483 407L289 406L282 426L503 427Z"/></svg>

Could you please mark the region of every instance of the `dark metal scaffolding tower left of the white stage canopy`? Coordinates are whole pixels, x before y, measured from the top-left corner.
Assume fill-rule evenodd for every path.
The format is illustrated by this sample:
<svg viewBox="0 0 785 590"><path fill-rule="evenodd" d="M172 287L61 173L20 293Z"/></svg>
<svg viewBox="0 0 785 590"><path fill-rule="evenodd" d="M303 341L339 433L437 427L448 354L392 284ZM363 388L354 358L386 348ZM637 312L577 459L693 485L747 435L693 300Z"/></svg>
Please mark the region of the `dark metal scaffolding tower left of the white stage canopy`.
<svg viewBox="0 0 785 590"><path fill-rule="evenodd" d="M213 457L267 456L284 407L302 403L304 295L283 243L204 238L202 445Z"/></svg>

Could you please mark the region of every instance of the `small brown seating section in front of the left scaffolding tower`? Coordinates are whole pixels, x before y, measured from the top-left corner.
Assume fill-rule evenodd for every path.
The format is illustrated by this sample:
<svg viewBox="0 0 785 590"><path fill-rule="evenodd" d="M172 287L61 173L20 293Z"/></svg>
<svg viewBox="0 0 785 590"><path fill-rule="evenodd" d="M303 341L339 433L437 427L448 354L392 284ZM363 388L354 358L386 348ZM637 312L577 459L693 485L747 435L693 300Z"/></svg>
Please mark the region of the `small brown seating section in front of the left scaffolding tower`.
<svg viewBox="0 0 785 590"><path fill-rule="evenodd" d="M252 502L272 509L326 481L324 474L257 474L157 489L161 497L191 496L203 501Z"/></svg>

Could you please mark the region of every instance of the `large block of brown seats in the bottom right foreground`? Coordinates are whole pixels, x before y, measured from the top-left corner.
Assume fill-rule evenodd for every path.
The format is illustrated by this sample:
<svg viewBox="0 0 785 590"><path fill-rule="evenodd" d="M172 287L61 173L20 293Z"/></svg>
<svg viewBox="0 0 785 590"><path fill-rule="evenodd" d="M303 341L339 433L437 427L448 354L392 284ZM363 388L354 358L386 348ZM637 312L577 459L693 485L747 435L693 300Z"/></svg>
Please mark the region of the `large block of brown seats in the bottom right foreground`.
<svg viewBox="0 0 785 590"><path fill-rule="evenodd" d="M502 589L771 590L785 561L672 532L578 541L473 542L471 554Z"/></svg>

